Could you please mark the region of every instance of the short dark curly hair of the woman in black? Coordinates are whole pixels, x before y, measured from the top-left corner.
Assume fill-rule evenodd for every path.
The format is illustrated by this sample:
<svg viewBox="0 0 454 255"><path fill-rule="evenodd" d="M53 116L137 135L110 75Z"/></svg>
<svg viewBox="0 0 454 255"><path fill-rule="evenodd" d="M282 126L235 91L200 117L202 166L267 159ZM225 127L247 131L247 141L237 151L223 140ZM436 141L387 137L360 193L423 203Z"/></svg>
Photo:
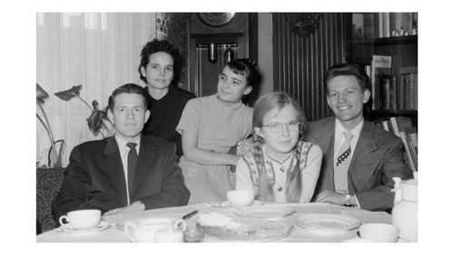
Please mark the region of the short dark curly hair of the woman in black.
<svg viewBox="0 0 454 255"><path fill-rule="evenodd" d="M144 83L146 82L146 77L142 74L142 67L146 69L146 66L150 62L150 55L155 53L166 53L170 54L173 58L173 80L171 85L176 84L180 81L180 73L184 64L184 57L180 53L177 47L169 43L167 40L158 40L154 39L153 41L148 42L142 48L141 52L141 64L139 65L139 74L140 78Z"/></svg>

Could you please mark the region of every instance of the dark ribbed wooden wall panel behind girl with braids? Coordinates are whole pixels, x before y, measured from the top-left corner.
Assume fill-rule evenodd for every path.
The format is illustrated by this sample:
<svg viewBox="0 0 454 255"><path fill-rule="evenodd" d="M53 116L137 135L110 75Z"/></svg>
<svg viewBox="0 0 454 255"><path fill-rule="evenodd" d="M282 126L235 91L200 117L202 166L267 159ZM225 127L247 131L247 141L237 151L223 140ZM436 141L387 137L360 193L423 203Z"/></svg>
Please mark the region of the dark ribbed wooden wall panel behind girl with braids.
<svg viewBox="0 0 454 255"><path fill-rule="evenodd" d="M291 94L309 121L331 114L322 78L332 64L345 62L344 23L341 13L323 14L317 29L302 38L291 32L284 14L272 14L273 89Z"/></svg>

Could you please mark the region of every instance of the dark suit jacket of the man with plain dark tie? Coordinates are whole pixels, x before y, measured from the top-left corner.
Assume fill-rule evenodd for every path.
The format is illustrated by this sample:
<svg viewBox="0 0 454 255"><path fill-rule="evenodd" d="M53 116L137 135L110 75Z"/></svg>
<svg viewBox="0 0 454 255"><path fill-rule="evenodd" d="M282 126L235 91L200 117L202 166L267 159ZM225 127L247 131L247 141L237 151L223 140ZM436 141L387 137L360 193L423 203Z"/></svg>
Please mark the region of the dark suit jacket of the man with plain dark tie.
<svg viewBox="0 0 454 255"><path fill-rule="evenodd" d="M190 192L184 186L175 145L142 135L133 181L133 199L145 209L186 205ZM123 163L114 137L74 147L64 172L64 183L52 204L55 220L68 211L110 211L127 205Z"/></svg>

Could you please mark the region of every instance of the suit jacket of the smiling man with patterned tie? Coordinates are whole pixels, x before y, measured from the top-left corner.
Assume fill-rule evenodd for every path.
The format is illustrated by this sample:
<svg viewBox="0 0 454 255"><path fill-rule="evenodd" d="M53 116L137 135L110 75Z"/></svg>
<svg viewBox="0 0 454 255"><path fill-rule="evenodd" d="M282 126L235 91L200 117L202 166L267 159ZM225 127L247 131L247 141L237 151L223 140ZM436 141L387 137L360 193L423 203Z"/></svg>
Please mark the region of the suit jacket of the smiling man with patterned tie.
<svg viewBox="0 0 454 255"><path fill-rule="evenodd" d="M323 151L321 173L314 198L321 191L334 189L334 130L335 117L308 124L308 141ZM349 191L360 202L361 209L384 211L394 203L392 177L407 180L412 172L405 163L400 138L364 121L360 138L352 155L348 171Z"/></svg>

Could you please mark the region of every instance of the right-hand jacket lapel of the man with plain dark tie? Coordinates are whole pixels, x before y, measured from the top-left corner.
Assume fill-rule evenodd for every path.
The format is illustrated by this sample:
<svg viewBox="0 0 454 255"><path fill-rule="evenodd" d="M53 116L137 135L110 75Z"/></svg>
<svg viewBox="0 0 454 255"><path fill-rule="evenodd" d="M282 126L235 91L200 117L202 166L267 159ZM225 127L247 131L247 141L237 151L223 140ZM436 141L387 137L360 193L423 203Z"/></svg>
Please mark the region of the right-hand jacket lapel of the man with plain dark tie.
<svg viewBox="0 0 454 255"><path fill-rule="evenodd" d="M153 169L153 164L155 164L156 158L156 147L153 143L144 142L143 135L141 137L141 145L139 158L137 159L137 166L135 169L134 181L133 181L133 198L134 200L140 199L136 198L135 194L141 186L142 182L145 180L146 175L149 173L150 169Z"/></svg>

